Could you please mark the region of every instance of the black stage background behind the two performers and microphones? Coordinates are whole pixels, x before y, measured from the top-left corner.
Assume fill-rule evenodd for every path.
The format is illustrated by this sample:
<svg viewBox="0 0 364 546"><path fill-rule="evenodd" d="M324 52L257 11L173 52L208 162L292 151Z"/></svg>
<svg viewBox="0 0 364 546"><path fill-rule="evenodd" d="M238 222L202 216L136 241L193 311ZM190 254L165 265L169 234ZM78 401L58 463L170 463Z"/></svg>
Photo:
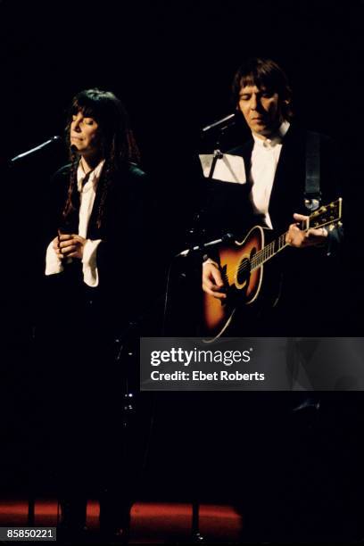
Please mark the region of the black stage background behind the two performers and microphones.
<svg viewBox="0 0 364 546"><path fill-rule="evenodd" d="M66 154L54 145L12 172L6 161L62 135L64 112L79 90L111 89L127 105L161 205L160 241L150 244L177 252L186 246L186 227L198 209L196 152L211 148L200 141L200 128L232 112L230 83L242 58L271 56L293 82L297 118L334 136L343 151L348 267L337 290L350 302L342 334L361 335L363 15L359 0L0 2L4 492L24 491L28 479L31 393L24 377L32 370L29 344L43 268L41 219L48 179ZM226 146L245 136L236 128ZM344 405L356 415L350 425L355 435L360 396L349 396ZM241 471L239 459L234 455L236 466L228 472L220 462L230 461L228 438L240 417L227 416L224 404L219 393L159 397L142 495L186 498L195 484L191 476L205 476L200 495L231 499L228 484ZM44 449L39 464L46 467ZM200 465L212 469L216 486ZM38 490L45 491L46 472L38 476Z"/></svg>

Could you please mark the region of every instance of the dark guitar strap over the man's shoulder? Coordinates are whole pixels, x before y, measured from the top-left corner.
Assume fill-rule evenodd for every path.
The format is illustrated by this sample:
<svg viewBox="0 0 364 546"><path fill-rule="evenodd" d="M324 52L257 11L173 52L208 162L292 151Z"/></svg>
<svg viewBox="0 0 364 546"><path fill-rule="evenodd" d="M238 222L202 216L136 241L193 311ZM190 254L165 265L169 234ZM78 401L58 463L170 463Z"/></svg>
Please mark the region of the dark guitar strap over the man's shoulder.
<svg viewBox="0 0 364 546"><path fill-rule="evenodd" d="M306 137L306 182L304 205L308 211L316 211L321 203L320 178L320 136L307 131Z"/></svg>

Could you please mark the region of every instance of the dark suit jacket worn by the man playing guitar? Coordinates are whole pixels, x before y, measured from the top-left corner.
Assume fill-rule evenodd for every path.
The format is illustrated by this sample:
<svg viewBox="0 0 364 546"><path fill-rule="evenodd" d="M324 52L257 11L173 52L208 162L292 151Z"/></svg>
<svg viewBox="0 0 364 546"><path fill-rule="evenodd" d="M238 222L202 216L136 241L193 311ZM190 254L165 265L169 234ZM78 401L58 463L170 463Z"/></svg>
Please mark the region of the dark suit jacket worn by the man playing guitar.
<svg viewBox="0 0 364 546"><path fill-rule="evenodd" d="M273 225L272 236L285 233L294 223L294 212L308 214L304 206L306 172L307 131L295 127L288 129L279 157L276 176L269 201L269 215ZM253 140L235 148L229 153L244 158L245 172L251 170ZM320 137L320 189L322 204L330 203L340 196L338 154L326 136ZM249 178L247 176L247 178ZM232 232L241 239L254 225L261 225L261 218L254 215L249 199L251 186L220 181L206 181L207 200L201 217L206 239L219 238ZM335 309L332 306L337 297L337 264L327 249L337 253L341 234L329 234L327 246L323 248L286 248L269 262L269 268L280 269L283 281L281 295L275 310L260 318L257 335L339 335ZM267 267L267 266L265 266ZM268 273L268 269L266 269ZM277 288L278 290L278 288ZM335 291L334 294L332 291ZM273 295L273 294L272 294ZM273 296L274 299L275 295ZM318 315L317 309L320 311ZM327 307L328 306L328 307ZM334 309L333 309L334 307ZM269 308L269 306L268 306ZM331 308L331 310L330 310ZM322 312L322 309L325 309ZM332 314L334 313L334 315ZM335 316L335 320L334 320ZM335 333L331 329L335 327ZM244 335L242 332L241 335ZM343 334L342 334L343 335Z"/></svg>

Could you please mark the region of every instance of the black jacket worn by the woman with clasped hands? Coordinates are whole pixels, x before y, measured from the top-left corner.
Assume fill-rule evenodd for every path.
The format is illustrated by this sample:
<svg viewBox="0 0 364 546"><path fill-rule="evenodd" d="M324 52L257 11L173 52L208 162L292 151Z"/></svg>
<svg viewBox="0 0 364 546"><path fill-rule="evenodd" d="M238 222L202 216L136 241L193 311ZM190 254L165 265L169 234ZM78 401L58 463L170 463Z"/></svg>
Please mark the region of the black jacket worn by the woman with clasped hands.
<svg viewBox="0 0 364 546"><path fill-rule="evenodd" d="M83 282L82 264L73 260L62 273L45 278L45 294L57 294L68 318L80 309L95 310L98 319L112 329L123 327L139 316L146 304L145 265L151 251L145 244L148 203L148 183L145 173L134 164L126 165L115 173L108 191L101 226L97 226L97 212L101 199L98 182L95 203L87 227L87 238L101 239L97 247L99 285L88 287ZM47 211L46 244L57 229L63 233L78 233L79 210L70 214L67 222L62 219L62 209L67 199L70 182L70 165L58 170L51 184ZM148 209L147 209L147 204ZM82 315L82 313L81 313Z"/></svg>

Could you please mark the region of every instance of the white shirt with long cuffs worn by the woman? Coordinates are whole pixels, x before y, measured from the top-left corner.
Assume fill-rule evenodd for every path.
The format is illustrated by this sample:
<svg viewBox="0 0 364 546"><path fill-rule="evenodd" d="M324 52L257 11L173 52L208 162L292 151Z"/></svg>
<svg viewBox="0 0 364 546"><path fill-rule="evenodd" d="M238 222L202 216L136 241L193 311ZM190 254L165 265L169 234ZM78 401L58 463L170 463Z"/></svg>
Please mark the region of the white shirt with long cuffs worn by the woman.
<svg viewBox="0 0 364 546"><path fill-rule="evenodd" d="M88 222L91 217L92 209L95 202L95 194L97 183L100 179L103 170L103 161L95 167L90 173L85 173L79 161L79 169L77 170L77 186L79 189L79 236L86 238ZM87 178L87 182L83 182ZM97 247L101 243L101 239L87 239L84 246L82 258L82 272L84 282L95 288L99 284L99 276L97 270ZM65 259L63 259L65 260ZM71 261L71 258L68 258ZM55 275L63 271L62 260L60 260L53 248L53 242L48 244L45 256L45 275Z"/></svg>

